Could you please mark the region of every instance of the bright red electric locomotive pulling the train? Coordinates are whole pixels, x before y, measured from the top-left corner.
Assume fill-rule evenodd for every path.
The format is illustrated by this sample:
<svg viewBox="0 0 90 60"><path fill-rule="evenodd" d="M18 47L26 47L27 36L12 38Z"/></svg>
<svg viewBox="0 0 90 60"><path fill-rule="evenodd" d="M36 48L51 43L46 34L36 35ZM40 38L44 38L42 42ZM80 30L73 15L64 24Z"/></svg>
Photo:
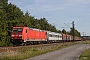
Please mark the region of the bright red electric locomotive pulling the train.
<svg viewBox="0 0 90 60"><path fill-rule="evenodd" d="M13 43L22 43L30 41L46 41L46 31L39 29L30 29L28 27L13 27L11 33L11 40Z"/></svg>

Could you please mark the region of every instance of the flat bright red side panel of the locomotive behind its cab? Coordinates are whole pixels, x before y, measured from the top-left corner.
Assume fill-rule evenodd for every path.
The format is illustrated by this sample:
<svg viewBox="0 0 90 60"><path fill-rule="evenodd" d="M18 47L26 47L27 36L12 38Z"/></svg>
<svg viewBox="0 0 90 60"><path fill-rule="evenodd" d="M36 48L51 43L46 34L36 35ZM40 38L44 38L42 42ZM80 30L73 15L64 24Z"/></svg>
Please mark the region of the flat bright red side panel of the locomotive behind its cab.
<svg viewBox="0 0 90 60"><path fill-rule="evenodd" d="M46 41L46 32L38 30L28 30L28 41Z"/></svg>

